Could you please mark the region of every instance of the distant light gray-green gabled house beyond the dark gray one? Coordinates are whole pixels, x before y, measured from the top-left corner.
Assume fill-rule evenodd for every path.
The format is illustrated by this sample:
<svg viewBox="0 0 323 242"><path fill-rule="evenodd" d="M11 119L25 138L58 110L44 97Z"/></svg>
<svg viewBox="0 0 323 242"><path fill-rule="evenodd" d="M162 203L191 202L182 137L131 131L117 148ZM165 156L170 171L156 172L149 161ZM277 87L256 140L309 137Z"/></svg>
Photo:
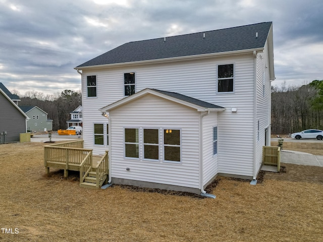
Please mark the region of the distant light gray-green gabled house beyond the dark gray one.
<svg viewBox="0 0 323 242"><path fill-rule="evenodd" d="M42 132L52 130L52 119L48 118L48 113L37 106L19 106L29 117L27 130L32 132Z"/></svg>

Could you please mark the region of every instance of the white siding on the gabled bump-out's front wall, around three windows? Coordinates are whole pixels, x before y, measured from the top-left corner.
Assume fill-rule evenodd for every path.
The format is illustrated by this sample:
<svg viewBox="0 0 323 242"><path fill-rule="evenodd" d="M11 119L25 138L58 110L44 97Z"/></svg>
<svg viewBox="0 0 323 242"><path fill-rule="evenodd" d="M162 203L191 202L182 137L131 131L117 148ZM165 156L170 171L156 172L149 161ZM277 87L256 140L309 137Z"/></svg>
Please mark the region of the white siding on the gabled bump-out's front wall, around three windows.
<svg viewBox="0 0 323 242"><path fill-rule="evenodd" d="M199 188L199 113L191 108L147 94L140 99L115 108L111 115L111 173L115 178L148 181L190 188ZM181 162L143 159L144 148L139 144L139 159L124 157L124 128L136 127L139 137L145 129L180 130ZM160 134L160 132L159 132ZM164 140L159 136L160 150ZM141 138L142 139L142 138ZM140 140L140 138L139 138ZM141 140L143 142L143 140ZM140 142L139 142L140 143ZM129 170L126 170L126 167Z"/></svg>

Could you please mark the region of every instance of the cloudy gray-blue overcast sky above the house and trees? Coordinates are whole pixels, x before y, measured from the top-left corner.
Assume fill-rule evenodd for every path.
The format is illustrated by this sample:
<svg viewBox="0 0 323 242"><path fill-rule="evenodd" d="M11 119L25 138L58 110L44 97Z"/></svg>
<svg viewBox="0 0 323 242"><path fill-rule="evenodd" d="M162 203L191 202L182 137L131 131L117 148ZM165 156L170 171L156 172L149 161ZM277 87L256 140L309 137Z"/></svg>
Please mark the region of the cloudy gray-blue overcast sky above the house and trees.
<svg viewBox="0 0 323 242"><path fill-rule="evenodd" d="M323 79L322 0L0 0L0 82L81 89L73 68L130 41L273 22L275 86Z"/></svg>

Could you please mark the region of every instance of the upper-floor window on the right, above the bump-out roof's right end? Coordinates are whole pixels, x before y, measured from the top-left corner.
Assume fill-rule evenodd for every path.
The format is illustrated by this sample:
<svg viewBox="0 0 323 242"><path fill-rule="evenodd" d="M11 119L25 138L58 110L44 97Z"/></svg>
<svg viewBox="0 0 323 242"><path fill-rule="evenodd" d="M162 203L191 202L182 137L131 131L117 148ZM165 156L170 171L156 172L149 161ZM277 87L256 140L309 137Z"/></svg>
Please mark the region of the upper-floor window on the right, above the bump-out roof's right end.
<svg viewBox="0 0 323 242"><path fill-rule="evenodd" d="M218 92L233 92L233 64L218 66Z"/></svg>

